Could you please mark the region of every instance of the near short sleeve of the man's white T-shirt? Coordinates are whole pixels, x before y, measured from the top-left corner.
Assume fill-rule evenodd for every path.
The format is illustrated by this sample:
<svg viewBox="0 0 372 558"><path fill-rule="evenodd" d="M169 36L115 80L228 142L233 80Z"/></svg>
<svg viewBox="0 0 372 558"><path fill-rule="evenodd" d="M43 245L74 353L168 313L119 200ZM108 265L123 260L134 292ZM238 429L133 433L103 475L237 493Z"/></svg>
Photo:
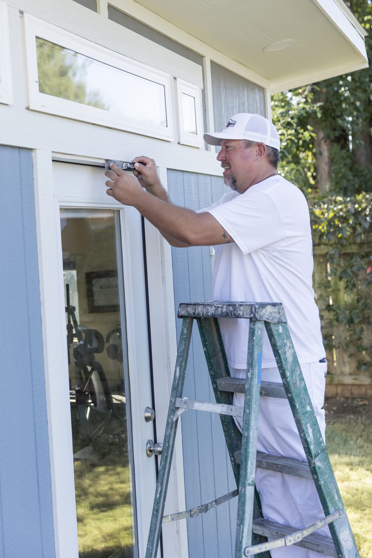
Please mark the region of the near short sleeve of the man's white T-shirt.
<svg viewBox="0 0 372 558"><path fill-rule="evenodd" d="M262 191L247 191L207 211L218 220L244 254L286 238L276 203Z"/></svg>

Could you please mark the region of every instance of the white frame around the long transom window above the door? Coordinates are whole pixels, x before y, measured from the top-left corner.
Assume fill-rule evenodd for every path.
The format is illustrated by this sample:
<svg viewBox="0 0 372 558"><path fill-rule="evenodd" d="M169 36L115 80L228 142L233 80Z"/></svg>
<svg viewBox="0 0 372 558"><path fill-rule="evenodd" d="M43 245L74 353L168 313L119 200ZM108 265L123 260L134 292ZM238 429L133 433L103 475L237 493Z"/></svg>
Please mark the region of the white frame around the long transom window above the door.
<svg viewBox="0 0 372 558"><path fill-rule="evenodd" d="M47 23L36 17L25 14L25 41L27 59L27 81L29 94L29 108L39 112L56 114L65 118L71 118L83 122L109 126L111 128L125 130L155 137L161 140L173 141L173 123L171 108L171 85L170 76L163 71L150 68L141 62L132 60L127 56L118 54L104 46L88 41ZM64 46L67 49L79 52L95 60L114 66L120 70L140 76L141 78L155 81L164 86L165 103L168 126L157 126L136 118L124 117L122 114L109 112L96 107L90 107L67 99L60 99L52 95L40 93L38 89L36 36L47 41Z"/></svg>

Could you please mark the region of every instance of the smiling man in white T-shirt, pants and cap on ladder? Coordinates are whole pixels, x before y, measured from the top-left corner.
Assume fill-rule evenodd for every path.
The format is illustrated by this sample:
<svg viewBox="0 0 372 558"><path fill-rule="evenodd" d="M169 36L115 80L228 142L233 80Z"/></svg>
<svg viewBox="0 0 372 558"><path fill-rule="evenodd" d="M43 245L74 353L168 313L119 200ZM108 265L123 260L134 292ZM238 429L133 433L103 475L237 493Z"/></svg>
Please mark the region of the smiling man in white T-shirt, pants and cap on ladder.
<svg viewBox="0 0 372 558"><path fill-rule="evenodd" d="M221 133L204 134L204 140L221 146L217 159L231 188L210 208L195 213L173 205L158 180L156 163L144 156L134 159L136 178L111 167L106 173L111 179L106 182L107 193L136 207L172 246L214 246L212 300L282 302L324 439L327 364L312 289L312 238L305 196L277 174L279 136L264 117L235 114ZM219 325L231 376L245 378L249 320L221 318ZM262 380L281 382L266 333ZM235 393L234 405L244 405L243 393ZM287 400L260 397L257 450L306 460ZM264 518L301 528L324 517L311 479L257 469L255 484ZM327 526L317 532L329 536ZM284 546L271 554L274 558L317 556L298 546Z"/></svg>

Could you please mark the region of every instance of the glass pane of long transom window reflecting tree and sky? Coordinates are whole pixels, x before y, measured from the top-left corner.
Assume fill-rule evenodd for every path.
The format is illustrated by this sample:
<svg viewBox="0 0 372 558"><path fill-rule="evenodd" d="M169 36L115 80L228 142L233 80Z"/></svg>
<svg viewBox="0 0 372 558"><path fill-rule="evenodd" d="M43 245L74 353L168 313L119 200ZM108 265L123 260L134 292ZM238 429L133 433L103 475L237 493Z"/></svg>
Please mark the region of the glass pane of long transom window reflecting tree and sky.
<svg viewBox="0 0 372 558"><path fill-rule="evenodd" d="M167 126L165 87L36 37L40 93Z"/></svg>

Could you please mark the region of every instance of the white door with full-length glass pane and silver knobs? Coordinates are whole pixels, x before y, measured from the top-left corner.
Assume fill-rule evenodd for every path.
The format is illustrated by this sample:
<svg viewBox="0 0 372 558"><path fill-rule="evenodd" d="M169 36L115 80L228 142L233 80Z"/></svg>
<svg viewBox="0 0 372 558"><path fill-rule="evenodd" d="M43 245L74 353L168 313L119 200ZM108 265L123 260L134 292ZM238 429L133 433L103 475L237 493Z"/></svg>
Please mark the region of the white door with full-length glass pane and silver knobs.
<svg viewBox="0 0 372 558"><path fill-rule="evenodd" d="M142 558L156 486L142 222L105 180L102 167L53 163L75 484L66 490L76 557Z"/></svg>

